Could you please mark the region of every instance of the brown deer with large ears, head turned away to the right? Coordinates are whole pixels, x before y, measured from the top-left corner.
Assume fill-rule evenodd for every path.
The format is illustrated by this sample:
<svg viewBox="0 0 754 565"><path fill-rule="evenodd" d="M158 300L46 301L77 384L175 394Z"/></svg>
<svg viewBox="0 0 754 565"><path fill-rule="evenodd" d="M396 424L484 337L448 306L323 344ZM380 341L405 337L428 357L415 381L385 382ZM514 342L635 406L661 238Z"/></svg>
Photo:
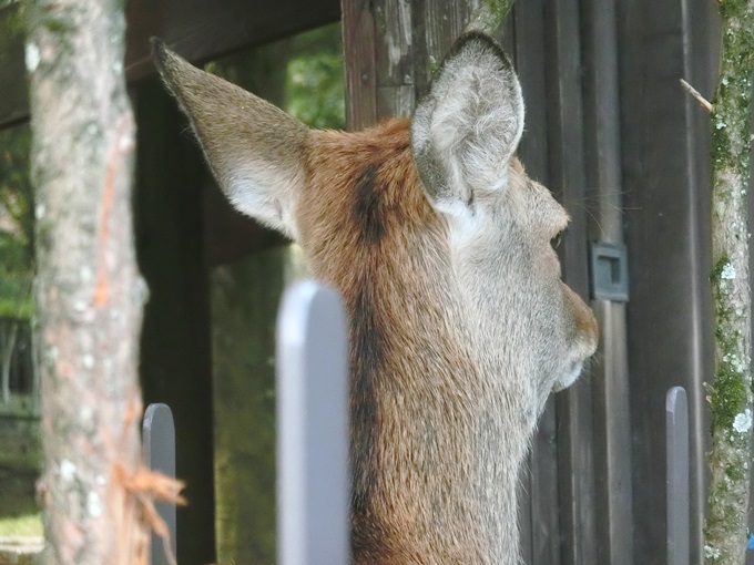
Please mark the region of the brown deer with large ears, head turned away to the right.
<svg viewBox="0 0 754 565"><path fill-rule="evenodd" d="M310 130L160 40L153 56L233 206L343 296L353 563L519 564L519 471L598 328L562 281L569 215L514 155L506 53L465 34L410 119L361 132Z"/></svg>

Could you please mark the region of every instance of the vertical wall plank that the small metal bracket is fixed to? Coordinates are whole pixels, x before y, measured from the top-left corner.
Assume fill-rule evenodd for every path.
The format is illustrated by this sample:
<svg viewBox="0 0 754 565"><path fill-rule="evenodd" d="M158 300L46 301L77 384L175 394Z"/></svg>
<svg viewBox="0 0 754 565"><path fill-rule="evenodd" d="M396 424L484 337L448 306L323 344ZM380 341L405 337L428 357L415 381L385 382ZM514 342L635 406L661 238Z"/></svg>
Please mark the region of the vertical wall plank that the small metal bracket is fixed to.
<svg viewBox="0 0 754 565"><path fill-rule="evenodd" d="M589 239L623 242L618 39L613 0L581 3ZM625 305L593 301L600 348L592 366L598 562L632 565L631 418Z"/></svg>

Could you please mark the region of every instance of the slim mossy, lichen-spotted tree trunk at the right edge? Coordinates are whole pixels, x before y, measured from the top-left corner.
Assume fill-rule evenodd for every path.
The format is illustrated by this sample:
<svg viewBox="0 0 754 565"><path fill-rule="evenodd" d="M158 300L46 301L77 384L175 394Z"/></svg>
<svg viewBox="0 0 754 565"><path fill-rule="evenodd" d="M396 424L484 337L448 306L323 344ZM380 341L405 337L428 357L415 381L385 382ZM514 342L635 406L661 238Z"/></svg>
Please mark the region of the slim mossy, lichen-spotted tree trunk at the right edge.
<svg viewBox="0 0 754 565"><path fill-rule="evenodd" d="M745 561L752 460L751 290L747 187L751 148L754 1L721 0L723 51L712 114L712 288L715 379L707 563Z"/></svg>

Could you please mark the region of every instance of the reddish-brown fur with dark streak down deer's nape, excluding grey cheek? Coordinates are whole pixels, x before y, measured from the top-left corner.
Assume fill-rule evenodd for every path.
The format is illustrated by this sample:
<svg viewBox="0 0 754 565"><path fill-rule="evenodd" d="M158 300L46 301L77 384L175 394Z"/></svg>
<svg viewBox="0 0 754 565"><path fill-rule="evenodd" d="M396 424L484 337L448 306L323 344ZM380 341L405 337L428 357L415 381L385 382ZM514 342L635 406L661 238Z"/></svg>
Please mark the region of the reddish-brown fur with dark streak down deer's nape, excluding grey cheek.
<svg viewBox="0 0 754 565"><path fill-rule="evenodd" d="M307 189L296 210L300 244L317 278L340 289L351 314L356 561L470 559L482 545L479 534L466 525L454 531L466 522L460 516L475 514L459 489L472 473L470 458L447 454L472 443L473 414L456 397L471 394L479 376L441 307L450 285L434 275L449 263L446 227L421 191L409 123L315 132L306 163ZM447 427L436 429L444 420ZM398 461L410 465L396 475ZM432 506L426 491L455 504ZM442 535L429 538L437 524L445 525ZM471 561L483 563L481 555Z"/></svg>

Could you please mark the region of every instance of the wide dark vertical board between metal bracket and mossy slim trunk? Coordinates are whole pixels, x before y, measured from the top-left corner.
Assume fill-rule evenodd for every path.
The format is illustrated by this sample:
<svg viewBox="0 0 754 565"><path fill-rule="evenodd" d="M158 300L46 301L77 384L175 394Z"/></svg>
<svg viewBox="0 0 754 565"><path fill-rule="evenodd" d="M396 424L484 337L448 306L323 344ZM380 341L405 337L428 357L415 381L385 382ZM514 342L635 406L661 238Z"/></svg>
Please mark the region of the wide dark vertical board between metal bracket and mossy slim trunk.
<svg viewBox="0 0 754 565"><path fill-rule="evenodd" d="M691 561L704 561L704 389L712 374L709 273L709 117L683 91L686 76L711 95L716 7L685 0L615 3L631 372L634 562L665 554L662 399L682 384L691 425Z"/></svg>

